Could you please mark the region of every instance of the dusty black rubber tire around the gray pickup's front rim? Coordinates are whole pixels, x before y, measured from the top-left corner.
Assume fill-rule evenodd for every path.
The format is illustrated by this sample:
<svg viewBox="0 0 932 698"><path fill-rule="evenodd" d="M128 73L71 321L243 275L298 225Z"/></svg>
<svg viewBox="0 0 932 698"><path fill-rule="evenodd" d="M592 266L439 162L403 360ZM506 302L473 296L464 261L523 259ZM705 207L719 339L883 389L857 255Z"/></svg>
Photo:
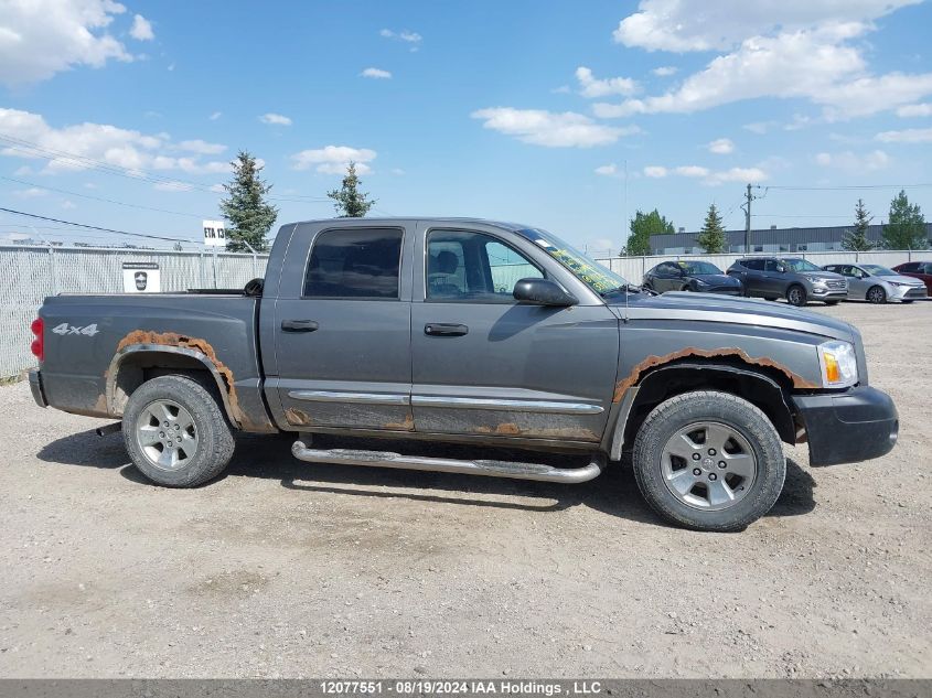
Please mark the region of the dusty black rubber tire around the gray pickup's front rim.
<svg viewBox="0 0 932 698"><path fill-rule="evenodd" d="M703 511L684 503L667 487L663 474L665 444L701 420L737 431L756 458L757 472L749 491L724 509ZM686 528L707 531L743 530L770 511L786 476L780 437L767 416L747 400L711 390L685 393L655 407L638 431L633 465L638 487L657 514Z"/></svg>

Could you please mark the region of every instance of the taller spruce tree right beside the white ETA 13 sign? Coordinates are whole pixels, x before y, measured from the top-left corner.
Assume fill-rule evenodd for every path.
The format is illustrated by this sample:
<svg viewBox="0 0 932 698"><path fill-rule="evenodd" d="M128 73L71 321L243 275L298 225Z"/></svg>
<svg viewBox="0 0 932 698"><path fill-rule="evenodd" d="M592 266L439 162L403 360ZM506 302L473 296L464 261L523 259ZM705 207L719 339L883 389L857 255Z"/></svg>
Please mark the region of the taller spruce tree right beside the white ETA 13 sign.
<svg viewBox="0 0 932 698"><path fill-rule="evenodd" d="M264 253L269 244L267 235L278 217L278 208L266 202L271 184L266 184L248 151L240 150L232 163L233 181L224 184L226 197L221 200L221 214L226 218L226 248L232 253Z"/></svg>

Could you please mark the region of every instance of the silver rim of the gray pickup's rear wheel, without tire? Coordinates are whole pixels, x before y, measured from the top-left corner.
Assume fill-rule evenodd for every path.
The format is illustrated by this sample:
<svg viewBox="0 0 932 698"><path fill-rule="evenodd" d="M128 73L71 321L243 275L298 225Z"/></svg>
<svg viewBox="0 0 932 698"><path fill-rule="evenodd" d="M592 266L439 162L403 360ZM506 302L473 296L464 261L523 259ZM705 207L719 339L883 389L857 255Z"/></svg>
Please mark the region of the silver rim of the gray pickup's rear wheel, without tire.
<svg viewBox="0 0 932 698"><path fill-rule="evenodd" d="M153 400L136 420L136 442L152 468L181 470L197 453L197 426L174 400Z"/></svg>

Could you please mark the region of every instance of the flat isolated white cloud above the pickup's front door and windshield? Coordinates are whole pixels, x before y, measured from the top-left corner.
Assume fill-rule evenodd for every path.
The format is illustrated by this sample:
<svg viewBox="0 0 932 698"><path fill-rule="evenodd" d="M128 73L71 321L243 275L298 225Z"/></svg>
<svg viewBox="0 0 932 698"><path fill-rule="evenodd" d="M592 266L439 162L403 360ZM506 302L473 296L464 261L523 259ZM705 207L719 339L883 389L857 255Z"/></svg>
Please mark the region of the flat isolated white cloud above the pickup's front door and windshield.
<svg viewBox="0 0 932 698"><path fill-rule="evenodd" d="M591 148L615 142L622 136L640 132L638 127L617 128L598 124L587 116L543 109L492 107L470 116L482 119L484 128L514 136L525 143L547 148Z"/></svg>

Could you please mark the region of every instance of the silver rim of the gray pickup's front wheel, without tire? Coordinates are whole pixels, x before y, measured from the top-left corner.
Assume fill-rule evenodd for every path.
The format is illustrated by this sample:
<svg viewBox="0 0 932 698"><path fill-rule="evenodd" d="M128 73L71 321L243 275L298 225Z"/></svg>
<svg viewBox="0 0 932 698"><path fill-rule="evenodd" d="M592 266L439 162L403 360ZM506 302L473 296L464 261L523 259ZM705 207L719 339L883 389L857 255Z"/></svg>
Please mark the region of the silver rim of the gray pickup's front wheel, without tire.
<svg viewBox="0 0 932 698"><path fill-rule="evenodd" d="M697 421L667 440L661 471L667 490L683 504L718 512L748 496L758 462L751 444L735 428Z"/></svg>

